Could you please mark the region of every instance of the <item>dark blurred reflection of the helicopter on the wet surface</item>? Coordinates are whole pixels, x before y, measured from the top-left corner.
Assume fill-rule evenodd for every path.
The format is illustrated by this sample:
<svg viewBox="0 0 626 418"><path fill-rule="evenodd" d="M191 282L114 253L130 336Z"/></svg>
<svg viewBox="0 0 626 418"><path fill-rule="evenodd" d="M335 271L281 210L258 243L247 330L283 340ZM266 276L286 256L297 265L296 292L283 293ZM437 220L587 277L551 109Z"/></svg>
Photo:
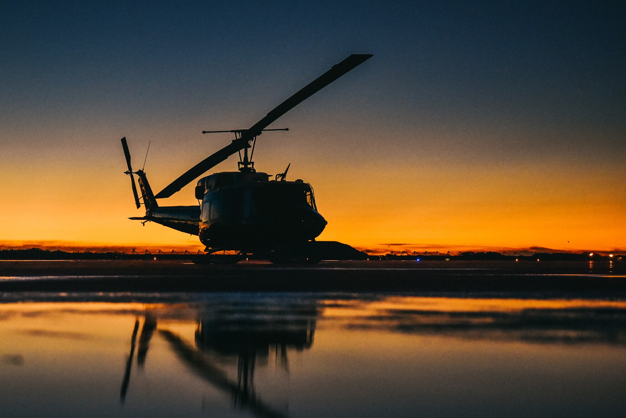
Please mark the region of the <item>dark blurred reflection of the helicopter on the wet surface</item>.
<svg viewBox="0 0 626 418"><path fill-rule="evenodd" d="M257 363L267 363L274 354L277 364L289 372L289 350L302 351L313 344L317 302L307 301L277 307L267 303L247 303L203 307L197 319L193 342L172 330L159 327L157 317L148 311L139 334L140 320L135 320L131 335L130 354L120 390L124 402L130 383L136 345L136 363L143 367L156 334L169 343L172 352L198 377L213 387L230 394L233 405L247 409L259 417L285 417L257 396L254 374ZM237 361L237 380L228 377L224 365Z"/></svg>

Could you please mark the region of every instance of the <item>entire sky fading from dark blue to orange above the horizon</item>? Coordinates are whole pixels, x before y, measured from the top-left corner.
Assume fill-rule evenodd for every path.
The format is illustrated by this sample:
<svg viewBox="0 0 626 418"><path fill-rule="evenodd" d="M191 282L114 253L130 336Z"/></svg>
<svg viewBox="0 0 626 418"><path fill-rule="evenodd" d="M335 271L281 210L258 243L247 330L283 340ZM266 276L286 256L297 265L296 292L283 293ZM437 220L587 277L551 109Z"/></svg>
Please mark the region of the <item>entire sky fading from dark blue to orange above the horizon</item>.
<svg viewBox="0 0 626 418"><path fill-rule="evenodd" d="M4 2L0 247L202 248L128 217L352 53L255 150L371 252L626 248L620 2ZM211 172L232 171L231 157ZM193 184L160 205L194 205Z"/></svg>

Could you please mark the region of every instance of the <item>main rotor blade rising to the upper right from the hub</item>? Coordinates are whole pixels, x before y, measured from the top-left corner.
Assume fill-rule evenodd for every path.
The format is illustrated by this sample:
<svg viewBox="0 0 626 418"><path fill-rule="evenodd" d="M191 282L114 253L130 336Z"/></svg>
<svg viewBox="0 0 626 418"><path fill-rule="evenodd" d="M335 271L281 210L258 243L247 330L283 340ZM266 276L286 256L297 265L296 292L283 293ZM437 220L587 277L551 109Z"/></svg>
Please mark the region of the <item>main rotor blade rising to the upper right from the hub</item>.
<svg viewBox="0 0 626 418"><path fill-rule="evenodd" d="M252 127L248 130L250 137L260 135L261 130L269 126L270 123L295 108L295 106L299 105L302 101L308 99L328 84L331 84L337 78L356 68L356 66L364 63L366 59L372 58L372 56L372 54L352 54L348 58L341 61L341 63L335 64L331 69L326 71L326 73L314 79L289 99L276 106L274 110L270 111L270 113L265 116L265 118L252 125Z"/></svg>

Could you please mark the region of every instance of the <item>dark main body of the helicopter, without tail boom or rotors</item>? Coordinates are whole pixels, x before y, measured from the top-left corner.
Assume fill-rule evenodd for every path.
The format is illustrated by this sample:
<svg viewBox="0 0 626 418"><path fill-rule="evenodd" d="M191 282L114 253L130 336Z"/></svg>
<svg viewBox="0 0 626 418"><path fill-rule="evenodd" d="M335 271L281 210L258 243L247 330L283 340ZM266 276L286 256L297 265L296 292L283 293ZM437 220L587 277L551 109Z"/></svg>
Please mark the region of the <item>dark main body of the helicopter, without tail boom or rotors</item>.
<svg viewBox="0 0 626 418"><path fill-rule="evenodd" d="M311 186L269 181L265 173L225 172L200 179L200 242L210 248L259 250L299 245L319 236L326 220Z"/></svg>

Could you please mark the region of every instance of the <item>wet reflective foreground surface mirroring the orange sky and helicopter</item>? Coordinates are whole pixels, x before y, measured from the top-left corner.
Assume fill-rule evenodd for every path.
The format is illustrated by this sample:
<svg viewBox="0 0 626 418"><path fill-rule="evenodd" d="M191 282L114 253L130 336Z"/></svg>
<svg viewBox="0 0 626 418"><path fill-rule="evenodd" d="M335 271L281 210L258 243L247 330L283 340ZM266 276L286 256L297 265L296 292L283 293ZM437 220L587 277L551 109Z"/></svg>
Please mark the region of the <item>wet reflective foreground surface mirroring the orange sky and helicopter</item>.
<svg viewBox="0 0 626 418"><path fill-rule="evenodd" d="M572 418L626 407L616 298L4 295L3 417Z"/></svg>

